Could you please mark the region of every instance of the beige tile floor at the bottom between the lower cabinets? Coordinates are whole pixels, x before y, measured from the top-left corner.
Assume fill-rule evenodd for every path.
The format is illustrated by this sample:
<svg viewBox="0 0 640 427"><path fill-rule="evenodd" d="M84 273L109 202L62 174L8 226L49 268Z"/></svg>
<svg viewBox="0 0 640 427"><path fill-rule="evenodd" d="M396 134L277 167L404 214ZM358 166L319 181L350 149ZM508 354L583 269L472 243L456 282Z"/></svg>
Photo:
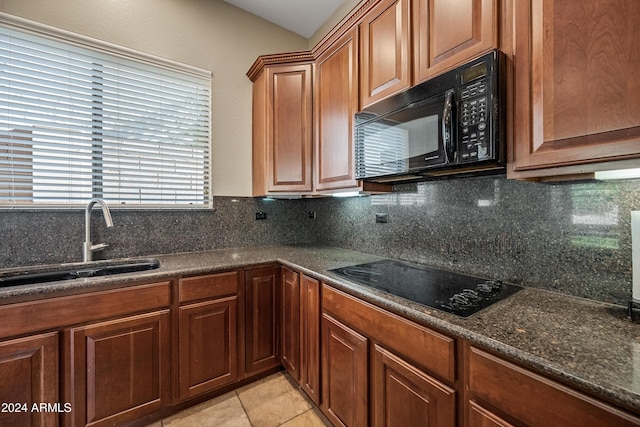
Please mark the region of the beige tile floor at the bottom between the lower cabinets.
<svg viewBox="0 0 640 427"><path fill-rule="evenodd" d="M148 427L327 427L329 421L284 372L223 394Z"/></svg>

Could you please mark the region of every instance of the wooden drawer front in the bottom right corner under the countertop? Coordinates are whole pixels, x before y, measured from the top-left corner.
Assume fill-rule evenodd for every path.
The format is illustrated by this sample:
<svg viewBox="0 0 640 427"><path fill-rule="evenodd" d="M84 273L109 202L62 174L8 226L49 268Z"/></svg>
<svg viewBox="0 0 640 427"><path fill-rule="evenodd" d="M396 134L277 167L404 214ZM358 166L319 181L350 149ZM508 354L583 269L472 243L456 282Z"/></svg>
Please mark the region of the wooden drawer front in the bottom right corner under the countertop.
<svg viewBox="0 0 640 427"><path fill-rule="evenodd" d="M640 425L624 411L475 347L466 354L468 409L477 398L527 425Z"/></svg>

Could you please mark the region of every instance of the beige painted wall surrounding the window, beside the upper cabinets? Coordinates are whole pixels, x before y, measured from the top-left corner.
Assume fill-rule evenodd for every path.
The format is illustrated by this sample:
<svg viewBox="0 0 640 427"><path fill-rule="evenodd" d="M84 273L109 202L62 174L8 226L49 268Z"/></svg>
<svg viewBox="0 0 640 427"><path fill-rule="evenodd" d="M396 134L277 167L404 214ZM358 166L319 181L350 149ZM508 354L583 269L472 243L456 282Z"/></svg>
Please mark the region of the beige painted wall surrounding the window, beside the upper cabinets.
<svg viewBox="0 0 640 427"><path fill-rule="evenodd" d="M213 194L251 195L251 81L259 55L308 40L222 0L0 0L0 11L213 72Z"/></svg>

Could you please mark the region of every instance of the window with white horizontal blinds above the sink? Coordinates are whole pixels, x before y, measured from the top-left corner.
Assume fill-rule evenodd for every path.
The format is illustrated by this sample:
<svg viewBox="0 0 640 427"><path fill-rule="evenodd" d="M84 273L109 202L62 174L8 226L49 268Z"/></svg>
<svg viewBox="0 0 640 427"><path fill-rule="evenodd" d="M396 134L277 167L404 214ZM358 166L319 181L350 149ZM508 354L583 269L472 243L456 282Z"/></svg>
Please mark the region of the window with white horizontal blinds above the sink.
<svg viewBox="0 0 640 427"><path fill-rule="evenodd" d="M0 207L210 204L209 72L0 16Z"/></svg>

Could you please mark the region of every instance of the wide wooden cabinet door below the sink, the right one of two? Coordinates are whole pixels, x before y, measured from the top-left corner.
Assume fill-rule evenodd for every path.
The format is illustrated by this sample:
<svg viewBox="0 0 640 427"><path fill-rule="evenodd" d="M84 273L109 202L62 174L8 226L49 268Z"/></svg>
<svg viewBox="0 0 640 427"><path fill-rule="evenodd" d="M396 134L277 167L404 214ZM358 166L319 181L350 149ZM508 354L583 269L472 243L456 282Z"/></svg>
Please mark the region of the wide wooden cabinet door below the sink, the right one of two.
<svg viewBox="0 0 640 427"><path fill-rule="evenodd" d="M169 342L169 310L66 330L66 424L120 425L168 405Z"/></svg>

